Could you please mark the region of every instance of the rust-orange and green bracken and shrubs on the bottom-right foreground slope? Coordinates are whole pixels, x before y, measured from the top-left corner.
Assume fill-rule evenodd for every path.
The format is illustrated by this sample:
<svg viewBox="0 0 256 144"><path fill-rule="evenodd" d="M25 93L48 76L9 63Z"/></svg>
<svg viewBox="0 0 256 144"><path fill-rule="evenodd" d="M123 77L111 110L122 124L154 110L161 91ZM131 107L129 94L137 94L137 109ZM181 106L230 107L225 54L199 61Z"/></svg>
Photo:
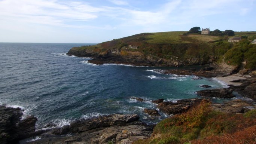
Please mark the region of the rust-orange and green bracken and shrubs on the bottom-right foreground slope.
<svg viewBox="0 0 256 144"><path fill-rule="evenodd" d="M133 144L255 144L256 110L245 114L213 111L202 101L186 113L159 122L150 138Z"/></svg>

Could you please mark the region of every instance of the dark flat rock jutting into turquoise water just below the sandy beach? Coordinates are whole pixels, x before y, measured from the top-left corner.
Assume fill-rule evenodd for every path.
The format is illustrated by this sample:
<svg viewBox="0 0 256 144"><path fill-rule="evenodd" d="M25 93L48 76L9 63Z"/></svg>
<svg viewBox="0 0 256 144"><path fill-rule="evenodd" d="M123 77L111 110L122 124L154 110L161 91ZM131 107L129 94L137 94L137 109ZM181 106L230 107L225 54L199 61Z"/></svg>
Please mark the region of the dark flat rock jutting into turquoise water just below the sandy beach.
<svg viewBox="0 0 256 144"><path fill-rule="evenodd" d="M215 98L233 98L235 95L232 94L233 89L205 89L196 91L196 94L202 97L215 97Z"/></svg>

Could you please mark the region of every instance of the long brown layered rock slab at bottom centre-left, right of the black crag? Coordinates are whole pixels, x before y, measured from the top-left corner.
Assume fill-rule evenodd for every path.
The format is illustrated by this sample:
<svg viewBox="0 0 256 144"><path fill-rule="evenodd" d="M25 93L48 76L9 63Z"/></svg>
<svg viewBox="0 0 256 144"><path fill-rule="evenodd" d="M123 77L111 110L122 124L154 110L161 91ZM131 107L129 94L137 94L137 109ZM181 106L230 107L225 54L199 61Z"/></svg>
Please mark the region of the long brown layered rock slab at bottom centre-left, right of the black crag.
<svg viewBox="0 0 256 144"><path fill-rule="evenodd" d="M41 139L25 144L131 144L150 137L153 128L140 122L137 114L112 114L80 119L40 135ZM67 135L63 137L61 135Z"/></svg>

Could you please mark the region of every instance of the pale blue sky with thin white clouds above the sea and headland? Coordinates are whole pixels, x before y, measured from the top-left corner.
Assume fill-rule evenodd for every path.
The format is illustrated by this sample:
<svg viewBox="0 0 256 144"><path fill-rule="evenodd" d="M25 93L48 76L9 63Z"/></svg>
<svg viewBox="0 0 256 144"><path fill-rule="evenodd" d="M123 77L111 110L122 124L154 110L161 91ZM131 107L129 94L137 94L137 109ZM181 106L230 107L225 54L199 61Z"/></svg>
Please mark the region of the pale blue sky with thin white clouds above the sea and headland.
<svg viewBox="0 0 256 144"><path fill-rule="evenodd" d="M256 0L0 0L0 42L101 43L139 33L256 31Z"/></svg>

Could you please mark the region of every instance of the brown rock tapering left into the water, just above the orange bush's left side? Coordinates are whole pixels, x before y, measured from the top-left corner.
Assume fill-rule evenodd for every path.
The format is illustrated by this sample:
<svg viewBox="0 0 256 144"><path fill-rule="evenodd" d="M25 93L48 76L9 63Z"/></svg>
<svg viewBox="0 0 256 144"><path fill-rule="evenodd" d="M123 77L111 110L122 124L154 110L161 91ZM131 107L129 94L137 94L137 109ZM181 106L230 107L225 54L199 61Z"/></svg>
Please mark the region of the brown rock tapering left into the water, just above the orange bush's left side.
<svg viewBox="0 0 256 144"><path fill-rule="evenodd" d="M198 104L202 101L202 98L192 98L192 99L180 99L177 102L164 101L157 105L157 107L164 113L178 114L187 111L192 105Z"/></svg>

